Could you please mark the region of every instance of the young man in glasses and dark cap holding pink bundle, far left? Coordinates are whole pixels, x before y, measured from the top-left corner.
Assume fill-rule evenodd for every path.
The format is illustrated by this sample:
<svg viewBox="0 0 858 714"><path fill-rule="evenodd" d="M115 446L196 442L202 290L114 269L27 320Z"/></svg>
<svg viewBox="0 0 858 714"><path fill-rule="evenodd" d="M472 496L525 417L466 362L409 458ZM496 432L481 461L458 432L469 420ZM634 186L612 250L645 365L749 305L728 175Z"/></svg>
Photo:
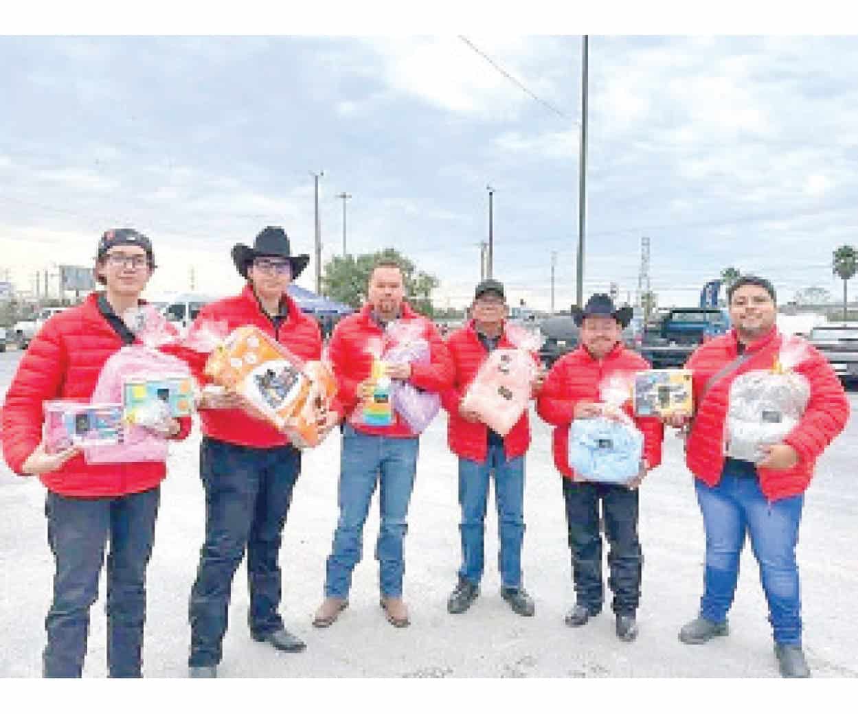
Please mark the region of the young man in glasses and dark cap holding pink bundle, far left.
<svg viewBox="0 0 858 714"><path fill-rule="evenodd" d="M136 309L155 267L152 243L130 228L100 238L94 273L105 291L45 322L21 358L3 405L3 455L47 489L45 515L55 572L45 619L45 677L80 677L87 651L89 607L98 598L107 555L107 669L139 677L146 567L154 543L163 461L89 465L78 447L47 453L42 405L49 399L88 401L101 368L136 342L124 315ZM184 439L190 417L168 419L168 438Z"/></svg>

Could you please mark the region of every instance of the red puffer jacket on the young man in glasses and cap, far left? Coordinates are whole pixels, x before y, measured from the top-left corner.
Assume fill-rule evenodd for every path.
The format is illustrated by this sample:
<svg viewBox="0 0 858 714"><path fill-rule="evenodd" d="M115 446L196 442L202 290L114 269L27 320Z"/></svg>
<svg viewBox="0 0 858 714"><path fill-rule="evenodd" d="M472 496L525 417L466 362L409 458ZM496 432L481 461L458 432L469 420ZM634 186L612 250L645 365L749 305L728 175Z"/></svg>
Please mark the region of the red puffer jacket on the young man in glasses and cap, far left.
<svg viewBox="0 0 858 714"><path fill-rule="evenodd" d="M42 441L42 403L88 400L107 358L123 346L99 311L99 295L94 292L82 304L53 315L21 357L3 405L3 456L16 473L23 474L22 465ZM190 417L178 421L181 430L173 439L184 439ZM54 493L96 497L146 491L165 476L162 461L87 464L81 453L39 478Z"/></svg>

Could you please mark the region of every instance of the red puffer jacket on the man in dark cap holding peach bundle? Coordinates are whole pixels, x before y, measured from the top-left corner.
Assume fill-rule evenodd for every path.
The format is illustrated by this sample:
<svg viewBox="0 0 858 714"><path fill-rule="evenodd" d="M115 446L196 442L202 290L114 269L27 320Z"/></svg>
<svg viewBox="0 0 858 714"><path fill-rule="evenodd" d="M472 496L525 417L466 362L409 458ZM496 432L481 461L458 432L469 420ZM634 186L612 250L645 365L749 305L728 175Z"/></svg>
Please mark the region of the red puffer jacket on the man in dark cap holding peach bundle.
<svg viewBox="0 0 858 714"><path fill-rule="evenodd" d="M506 333L501 336L498 347L514 347ZM459 415L459 403L474 381L480 365L488 358L488 351L480 342L474 329L474 321L456 330L447 338L447 348L456 368L453 384L441 395L444 409L450 414L447 422L447 443L450 451L464 459L484 463L488 455L488 427L482 422L468 422ZM504 437L504 453L507 459L516 459L527 453L530 446L530 423L528 412Z"/></svg>

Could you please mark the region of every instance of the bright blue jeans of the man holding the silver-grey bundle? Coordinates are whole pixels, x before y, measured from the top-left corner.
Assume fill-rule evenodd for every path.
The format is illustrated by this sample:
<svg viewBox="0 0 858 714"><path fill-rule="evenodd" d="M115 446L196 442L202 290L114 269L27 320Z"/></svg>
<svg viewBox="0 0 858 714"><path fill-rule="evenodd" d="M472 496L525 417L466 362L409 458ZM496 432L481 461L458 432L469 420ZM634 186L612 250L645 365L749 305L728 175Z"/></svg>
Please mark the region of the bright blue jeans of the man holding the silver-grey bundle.
<svg viewBox="0 0 858 714"><path fill-rule="evenodd" d="M723 622L739 579L746 532L759 564L775 641L801 644L801 596L795 545L803 495L766 501L753 465L728 459L721 482L711 489L694 479L706 531L706 569L700 615Z"/></svg>

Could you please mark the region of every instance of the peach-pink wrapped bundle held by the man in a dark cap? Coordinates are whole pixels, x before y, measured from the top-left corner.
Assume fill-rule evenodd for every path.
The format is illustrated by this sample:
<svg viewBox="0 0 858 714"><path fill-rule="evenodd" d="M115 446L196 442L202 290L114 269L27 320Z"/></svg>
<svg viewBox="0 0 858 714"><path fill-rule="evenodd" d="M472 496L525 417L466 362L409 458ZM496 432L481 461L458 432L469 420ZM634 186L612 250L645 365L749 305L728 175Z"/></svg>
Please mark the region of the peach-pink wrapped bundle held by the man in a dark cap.
<svg viewBox="0 0 858 714"><path fill-rule="evenodd" d="M462 406L475 411L480 421L501 436L510 433L522 417L539 374L533 352L542 344L541 333L507 323L506 338L514 348L498 347L477 370L465 391Z"/></svg>

